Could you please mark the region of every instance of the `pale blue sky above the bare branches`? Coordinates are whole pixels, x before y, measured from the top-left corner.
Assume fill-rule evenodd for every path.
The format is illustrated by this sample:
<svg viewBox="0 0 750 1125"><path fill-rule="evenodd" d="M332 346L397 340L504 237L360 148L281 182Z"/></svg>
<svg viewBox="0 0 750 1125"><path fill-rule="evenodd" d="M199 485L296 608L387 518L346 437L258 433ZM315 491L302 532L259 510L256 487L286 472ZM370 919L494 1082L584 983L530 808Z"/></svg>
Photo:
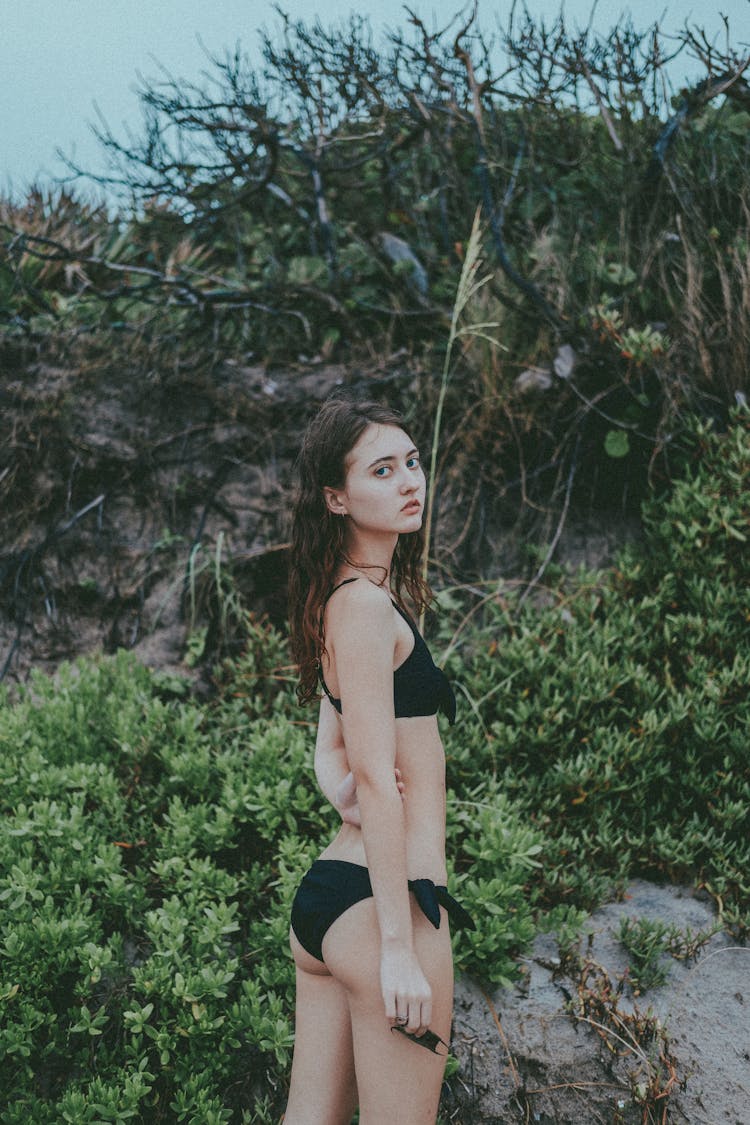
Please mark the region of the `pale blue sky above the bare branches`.
<svg viewBox="0 0 750 1125"><path fill-rule="evenodd" d="M324 25L368 14L376 39L385 28L406 27L401 0L354 6L350 0L280 0L292 18ZM412 0L427 27L444 26L466 6L457 0ZM570 25L586 26L593 0L564 0ZM559 0L527 0L533 16L553 18ZM710 9L707 14L706 9ZM635 26L654 20L674 33L686 19L723 40L720 12L730 19L734 46L750 42L750 0L598 0L594 27L607 32L623 11ZM509 0L479 0L479 21L491 32L505 20ZM237 43L259 55L259 29L273 32L279 17L272 0L0 0L0 192L18 196L36 182L65 174L62 150L92 171L103 168L91 124L103 117L116 136L138 130L136 87L159 75L197 80L209 70L207 52L223 55ZM678 75L679 79L679 75Z"/></svg>

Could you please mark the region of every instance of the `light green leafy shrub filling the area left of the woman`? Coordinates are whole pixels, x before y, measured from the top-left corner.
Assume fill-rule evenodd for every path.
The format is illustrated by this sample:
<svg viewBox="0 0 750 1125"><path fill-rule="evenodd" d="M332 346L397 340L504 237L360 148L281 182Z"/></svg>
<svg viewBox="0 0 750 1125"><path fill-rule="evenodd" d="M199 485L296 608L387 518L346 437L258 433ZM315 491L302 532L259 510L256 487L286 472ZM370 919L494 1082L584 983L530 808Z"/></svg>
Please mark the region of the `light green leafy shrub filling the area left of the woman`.
<svg viewBox="0 0 750 1125"><path fill-rule="evenodd" d="M3 1119L229 1120L278 1084L279 838L326 820L304 730L235 719L125 654L0 709Z"/></svg>

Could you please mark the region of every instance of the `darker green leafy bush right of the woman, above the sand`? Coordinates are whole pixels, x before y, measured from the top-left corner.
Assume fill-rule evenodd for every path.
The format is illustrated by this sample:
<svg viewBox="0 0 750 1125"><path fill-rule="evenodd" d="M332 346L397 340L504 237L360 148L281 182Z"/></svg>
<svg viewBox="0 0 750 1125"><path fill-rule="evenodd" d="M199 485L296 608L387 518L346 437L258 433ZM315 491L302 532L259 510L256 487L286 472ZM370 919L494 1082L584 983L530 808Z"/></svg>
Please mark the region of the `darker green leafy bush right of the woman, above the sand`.
<svg viewBox="0 0 750 1125"><path fill-rule="evenodd" d="M452 645L476 701L455 789L491 774L544 834L542 901L593 906L635 874L701 880L746 929L750 861L750 418L695 430L647 542L548 604L489 601Z"/></svg>

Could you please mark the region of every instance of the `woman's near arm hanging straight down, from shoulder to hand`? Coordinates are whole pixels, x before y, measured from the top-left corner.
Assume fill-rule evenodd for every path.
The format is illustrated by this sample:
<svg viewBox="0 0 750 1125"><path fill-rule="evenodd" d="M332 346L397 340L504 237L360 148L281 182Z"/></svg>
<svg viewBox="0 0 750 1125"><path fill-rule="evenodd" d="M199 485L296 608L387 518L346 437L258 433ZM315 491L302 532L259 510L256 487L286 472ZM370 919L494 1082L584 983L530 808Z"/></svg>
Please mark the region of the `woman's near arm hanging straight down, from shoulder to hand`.
<svg viewBox="0 0 750 1125"><path fill-rule="evenodd" d="M327 610L342 701L346 759L354 775L362 837L380 928L380 981L389 1019L408 1030L430 1023L430 986L414 952L406 821L395 776L394 651L390 598L372 583L342 590Z"/></svg>

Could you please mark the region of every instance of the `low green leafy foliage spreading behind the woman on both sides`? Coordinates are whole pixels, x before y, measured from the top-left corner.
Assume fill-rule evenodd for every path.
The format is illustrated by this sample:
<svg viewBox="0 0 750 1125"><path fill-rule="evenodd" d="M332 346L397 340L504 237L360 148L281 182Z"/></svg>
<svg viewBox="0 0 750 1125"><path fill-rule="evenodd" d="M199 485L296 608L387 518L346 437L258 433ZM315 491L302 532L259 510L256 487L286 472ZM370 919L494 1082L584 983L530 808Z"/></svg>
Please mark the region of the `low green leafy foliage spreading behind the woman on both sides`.
<svg viewBox="0 0 750 1125"><path fill-rule="evenodd" d="M750 927L750 417L692 433L613 570L440 595L457 964L494 984L635 874ZM289 904L336 818L284 639L246 624L205 704L125 652L2 699L3 1125L278 1119Z"/></svg>

